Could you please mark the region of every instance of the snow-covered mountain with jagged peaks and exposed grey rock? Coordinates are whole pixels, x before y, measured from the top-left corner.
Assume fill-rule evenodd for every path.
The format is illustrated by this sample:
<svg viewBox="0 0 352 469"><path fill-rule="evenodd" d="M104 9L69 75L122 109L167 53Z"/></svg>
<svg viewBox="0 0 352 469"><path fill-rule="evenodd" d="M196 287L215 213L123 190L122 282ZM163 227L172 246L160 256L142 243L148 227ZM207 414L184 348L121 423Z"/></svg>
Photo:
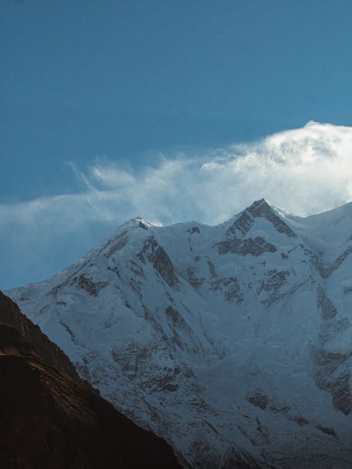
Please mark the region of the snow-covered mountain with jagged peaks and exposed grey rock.
<svg viewBox="0 0 352 469"><path fill-rule="evenodd" d="M81 377L193 468L350 468L352 204L122 225L8 292Z"/></svg>

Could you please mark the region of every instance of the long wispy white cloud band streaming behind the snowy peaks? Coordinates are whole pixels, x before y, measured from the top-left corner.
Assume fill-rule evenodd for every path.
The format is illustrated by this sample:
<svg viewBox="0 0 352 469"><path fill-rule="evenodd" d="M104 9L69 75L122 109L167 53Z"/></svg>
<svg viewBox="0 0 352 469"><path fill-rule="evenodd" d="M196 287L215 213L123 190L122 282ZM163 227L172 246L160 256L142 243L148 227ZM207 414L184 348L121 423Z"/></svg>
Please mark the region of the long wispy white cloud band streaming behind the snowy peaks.
<svg viewBox="0 0 352 469"><path fill-rule="evenodd" d="M85 249L137 215L158 224L220 223L260 197L298 215L339 206L352 200L352 127L310 122L203 156L158 155L153 167L139 171L106 160L71 168L81 192L0 205L0 242L11 244L6 252L41 258L54 244L67 247L68 238Z"/></svg>

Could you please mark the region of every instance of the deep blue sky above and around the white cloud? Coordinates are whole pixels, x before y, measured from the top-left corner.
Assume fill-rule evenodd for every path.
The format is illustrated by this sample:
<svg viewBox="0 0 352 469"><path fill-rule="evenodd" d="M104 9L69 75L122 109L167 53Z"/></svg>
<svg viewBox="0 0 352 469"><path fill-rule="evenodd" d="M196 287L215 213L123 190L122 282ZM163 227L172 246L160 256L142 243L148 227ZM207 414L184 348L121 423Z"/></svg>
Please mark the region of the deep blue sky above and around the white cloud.
<svg viewBox="0 0 352 469"><path fill-rule="evenodd" d="M65 267L126 216L215 223L240 209L234 204L215 216L218 201L207 217L194 200L175 210L174 193L166 198L168 216L168 206L158 213L126 200L113 206L115 215L87 212L68 230L61 213L49 220L41 205L30 218L25 203L49 197L54 213L57 196L98 191L102 200L113 190L123 201L128 181L137 191L150 168L161 177L165 161L175 169L181 153L187 165L218 158L219 149L228 158L234 142L258 142L309 120L351 125L352 2L2 0L0 67L6 288ZM151 199L158 206L158 194Z"/></svg>

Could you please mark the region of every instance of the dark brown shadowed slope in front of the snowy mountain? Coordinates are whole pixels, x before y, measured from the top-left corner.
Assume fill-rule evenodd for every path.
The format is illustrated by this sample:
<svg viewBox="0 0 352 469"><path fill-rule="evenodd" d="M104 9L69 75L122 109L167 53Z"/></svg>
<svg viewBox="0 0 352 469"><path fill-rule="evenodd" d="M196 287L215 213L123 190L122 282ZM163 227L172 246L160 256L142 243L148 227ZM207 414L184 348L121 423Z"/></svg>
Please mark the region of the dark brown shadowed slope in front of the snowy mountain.
<svg viewBox="0 0 352 469"><path fill-rule="evenodd" d="M0 292L1 468L180 468L161 438L118 413L72 369Z"/></svg>

